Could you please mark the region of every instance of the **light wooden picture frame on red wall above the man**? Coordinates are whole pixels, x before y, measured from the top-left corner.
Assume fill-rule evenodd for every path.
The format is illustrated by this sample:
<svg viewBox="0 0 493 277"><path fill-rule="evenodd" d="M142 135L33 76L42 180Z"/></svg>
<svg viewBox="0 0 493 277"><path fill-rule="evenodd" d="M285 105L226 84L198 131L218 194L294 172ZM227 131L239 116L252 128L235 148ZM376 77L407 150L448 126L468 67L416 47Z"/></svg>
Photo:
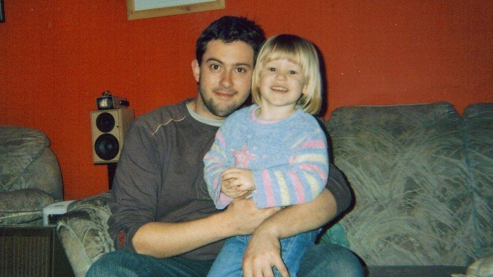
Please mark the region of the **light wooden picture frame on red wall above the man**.
<svg viewBox="0 0 493 277"><path fill-rule="evenodd" d="M226 0L127 0L127 19L135 20L221 10Z"/></svg>

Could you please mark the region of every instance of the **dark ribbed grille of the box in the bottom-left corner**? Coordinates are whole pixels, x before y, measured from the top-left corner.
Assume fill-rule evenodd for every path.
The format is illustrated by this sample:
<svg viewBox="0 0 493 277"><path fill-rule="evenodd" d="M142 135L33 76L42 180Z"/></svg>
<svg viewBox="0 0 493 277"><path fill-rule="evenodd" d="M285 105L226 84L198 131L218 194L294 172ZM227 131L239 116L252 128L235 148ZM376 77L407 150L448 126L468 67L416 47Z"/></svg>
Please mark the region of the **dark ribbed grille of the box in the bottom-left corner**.
<svg viewBox="0 0 493 277"><path fill-rule="evenodd" d="M0 233L0 276L50 276L51 236Z"/></svg>

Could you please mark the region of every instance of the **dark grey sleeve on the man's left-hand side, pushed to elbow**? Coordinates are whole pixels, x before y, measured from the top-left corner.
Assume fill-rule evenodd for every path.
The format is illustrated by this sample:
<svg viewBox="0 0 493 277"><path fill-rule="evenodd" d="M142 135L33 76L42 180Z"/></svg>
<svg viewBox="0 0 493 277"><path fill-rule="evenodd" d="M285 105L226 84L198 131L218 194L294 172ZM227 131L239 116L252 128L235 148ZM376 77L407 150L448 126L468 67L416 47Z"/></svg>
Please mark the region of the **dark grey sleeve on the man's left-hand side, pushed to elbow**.
<svg viewBox="0 0 493 277"><path fill-rule="evenodd" d="M137 230L156 221L156 195L161 183L159 152L151 130L141 121L134 121L126 133L111 190L108 231L117 250L135 252L132 239Z"/></svg>

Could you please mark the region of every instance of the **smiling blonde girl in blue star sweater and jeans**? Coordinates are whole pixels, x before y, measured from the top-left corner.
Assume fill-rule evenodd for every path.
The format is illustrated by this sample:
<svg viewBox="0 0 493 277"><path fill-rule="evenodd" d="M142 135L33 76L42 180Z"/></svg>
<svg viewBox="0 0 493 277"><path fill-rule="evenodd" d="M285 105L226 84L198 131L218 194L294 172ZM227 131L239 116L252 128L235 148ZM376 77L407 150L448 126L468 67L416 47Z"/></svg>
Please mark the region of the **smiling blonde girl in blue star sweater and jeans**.
<svg viewBox="0 0 493 277"><path fill-rule="evenodd" d="M310 115L321 105L313 44L295 35L267 39L253 72L252 99L255 104L226 119L204 157L205 180L216 207L223 209L240 197L252 197L258 208L315 199L327 183L329 163L325 134ZM311 231L280 241L291 276L317 234ZM209 276L241 276L249 239L227 239Z"/></svg>

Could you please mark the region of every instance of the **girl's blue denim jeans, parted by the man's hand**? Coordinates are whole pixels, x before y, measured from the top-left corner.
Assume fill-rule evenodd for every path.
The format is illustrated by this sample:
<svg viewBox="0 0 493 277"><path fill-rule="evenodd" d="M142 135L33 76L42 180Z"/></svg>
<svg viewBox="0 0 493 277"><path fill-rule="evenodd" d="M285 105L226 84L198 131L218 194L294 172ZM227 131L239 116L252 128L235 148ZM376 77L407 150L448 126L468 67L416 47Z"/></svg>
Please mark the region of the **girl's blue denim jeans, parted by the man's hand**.
<svg viewBox="0 0 493 277"><path fill-rule="evenodd" d="M280 240L281 257L291 277L296 277L300 262L305 251L315 244L318 231L307 232ZM243 270L241 261L252 236L236 236L226 240L214 264L209 271L209 277L241 277ZM274 275L280 276L274 268Z"/></svg>

